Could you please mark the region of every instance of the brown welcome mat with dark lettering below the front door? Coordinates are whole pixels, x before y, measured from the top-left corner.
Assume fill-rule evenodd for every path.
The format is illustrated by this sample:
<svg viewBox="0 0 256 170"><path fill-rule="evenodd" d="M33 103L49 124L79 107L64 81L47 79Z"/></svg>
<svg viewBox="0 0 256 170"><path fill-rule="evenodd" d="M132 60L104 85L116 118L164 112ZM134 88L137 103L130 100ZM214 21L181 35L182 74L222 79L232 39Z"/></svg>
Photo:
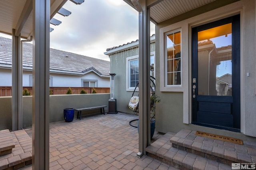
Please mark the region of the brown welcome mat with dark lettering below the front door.
<svg viewBox="0 0 256 170"><path fill-rule="evenodd" d="M226 141L226 142L231 142L231 143L236 143L236 144L239 144L239 145L243 145L242 140L232 138L232 137L214 135L214 134L211 134L211 133L205 133L205 132L200 132L200 131L196 131L195 135L202 136L202 137L208 137L208 138L211 138L211 139L218 139L218 140L221 140L221 141Z"/></svg>

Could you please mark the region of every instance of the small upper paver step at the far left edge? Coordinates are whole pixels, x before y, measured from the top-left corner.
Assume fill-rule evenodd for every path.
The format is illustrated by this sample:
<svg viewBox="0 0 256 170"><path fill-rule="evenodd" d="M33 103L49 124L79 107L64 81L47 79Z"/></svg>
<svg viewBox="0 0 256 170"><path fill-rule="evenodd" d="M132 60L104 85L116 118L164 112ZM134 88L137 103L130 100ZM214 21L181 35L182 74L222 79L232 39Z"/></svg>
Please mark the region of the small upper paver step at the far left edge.
<svg viewBox="0 0 256 170"><path fill-rule="evenodd" d="M15 144L8 129L0 131L0 156L12 153Z"/></svg>

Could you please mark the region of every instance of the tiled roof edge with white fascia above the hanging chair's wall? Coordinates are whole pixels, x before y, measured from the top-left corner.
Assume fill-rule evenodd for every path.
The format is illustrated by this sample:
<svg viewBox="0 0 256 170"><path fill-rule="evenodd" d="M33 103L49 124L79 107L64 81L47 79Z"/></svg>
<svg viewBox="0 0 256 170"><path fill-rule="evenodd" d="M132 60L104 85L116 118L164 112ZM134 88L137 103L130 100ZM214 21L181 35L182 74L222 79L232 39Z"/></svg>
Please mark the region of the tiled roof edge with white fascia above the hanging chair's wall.
<svg viewBox="0 0 256 170"><path fill-rule="evenodd" d="M150 37L150 43L153 43L155 41L156 41L156 36L155 36L155 34L153 34ZM127 49L134 48L138 45L139 45L139 40L136 39L136 41L132 41L130 43L126 43L126 44L119 45L119 46L116 46L116 47L108 48L108 49L106 49L106 52L104 54L105 55L110 55L110 54L115 53L117 51L124 51L124 50L127 50Z"/></svg>

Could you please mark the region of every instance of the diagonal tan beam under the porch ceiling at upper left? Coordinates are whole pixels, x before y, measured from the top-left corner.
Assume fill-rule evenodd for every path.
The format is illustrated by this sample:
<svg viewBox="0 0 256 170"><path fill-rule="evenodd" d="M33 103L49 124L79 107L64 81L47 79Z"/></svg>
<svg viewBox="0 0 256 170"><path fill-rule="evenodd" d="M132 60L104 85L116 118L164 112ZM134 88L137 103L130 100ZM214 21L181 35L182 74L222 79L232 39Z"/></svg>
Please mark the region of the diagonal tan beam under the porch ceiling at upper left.
<svg viewBox="0 0 256 170"><path fill-rule="evenodd" d="M28 17L32 11L33 4L32 0L27 0L26 4L24 5L24 8L22 10L22 13L20 15L20 18L18 20L18 23L16 24L15 28L15 36L19 36L22 28L24 27L26 21L28 20Z"/></svg>

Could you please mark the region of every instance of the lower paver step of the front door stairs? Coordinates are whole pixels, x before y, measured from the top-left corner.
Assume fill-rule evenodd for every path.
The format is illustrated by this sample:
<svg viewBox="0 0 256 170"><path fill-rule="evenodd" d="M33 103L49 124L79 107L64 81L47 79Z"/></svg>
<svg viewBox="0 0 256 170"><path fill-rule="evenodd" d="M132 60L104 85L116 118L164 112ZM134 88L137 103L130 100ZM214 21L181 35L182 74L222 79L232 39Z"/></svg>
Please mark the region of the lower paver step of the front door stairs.
<svg viewBox="0 0 256 170"><path fill-rule="evenodd" d="M174 133L166 133L160 139L146 148L148 156L163 161L174 168L183 170L230 170L231 164L226 165L200 155L172 147L170 139Z"/></svg>

